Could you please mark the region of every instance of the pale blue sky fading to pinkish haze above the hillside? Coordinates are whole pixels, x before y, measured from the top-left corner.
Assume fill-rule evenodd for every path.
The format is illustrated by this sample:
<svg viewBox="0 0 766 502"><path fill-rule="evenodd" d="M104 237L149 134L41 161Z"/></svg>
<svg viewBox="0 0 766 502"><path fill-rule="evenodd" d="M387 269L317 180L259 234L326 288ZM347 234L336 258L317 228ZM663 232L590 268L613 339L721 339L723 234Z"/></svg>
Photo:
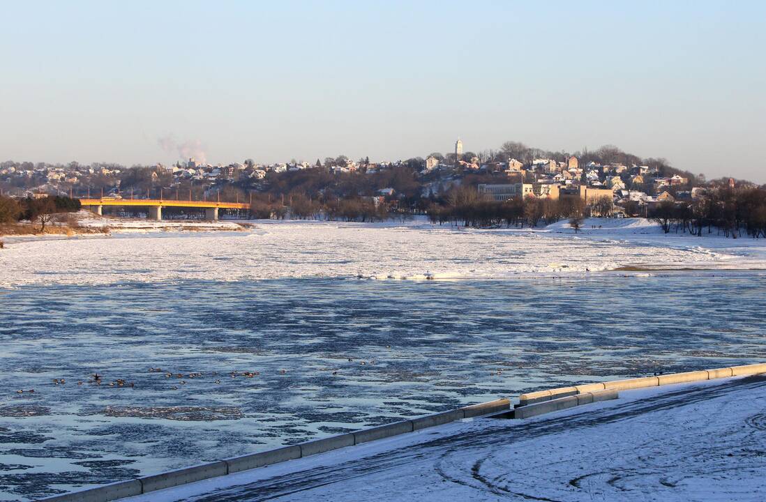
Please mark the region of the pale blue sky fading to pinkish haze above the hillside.
<svg viewBox="0 0 766 502"><path fill-rule="evenodd" d="M604 144L766 181L766 2L2 2L0 159ZM193 148L192 148L193 149Z"/></svg>

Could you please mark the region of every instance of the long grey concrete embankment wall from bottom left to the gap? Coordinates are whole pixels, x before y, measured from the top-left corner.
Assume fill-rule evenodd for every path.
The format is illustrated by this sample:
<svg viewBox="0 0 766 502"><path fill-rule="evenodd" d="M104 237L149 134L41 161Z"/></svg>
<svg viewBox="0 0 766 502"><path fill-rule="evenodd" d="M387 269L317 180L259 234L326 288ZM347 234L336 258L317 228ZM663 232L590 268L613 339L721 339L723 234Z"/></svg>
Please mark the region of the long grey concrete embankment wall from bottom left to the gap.
<svg viewBox="0 0 766 502"><path fill-rule="evenodd" d="M220 461L208 464L195 465L189 468L175 471L162 472L152 476L143 476L129 481L106 484L96 488L75 491L69 494L54 495L40 500L48 502L106 502L123 497L146 494L163 488L176 487L182 484L194 483L209 478L216 478L226 474L246 471L264 467L265 465L278 464L283 461L296 458L308 457L325 451L359 445L365 442L375 441L382 438L390 438L394 435L414 432L435 425L442 425L462 419L471 419L476 416L490 415L503 412L511 407L510 399L496 399L488 403L480 403L463 408L453 409L448 412L436 413L417 419L404 420L386 425L379 425L370 429L362 429L348 434L334 435L329 438L307 441L293 446L285 446L269 451L260 451L250 455L242 455L234 458L224 458Z"/></svg>

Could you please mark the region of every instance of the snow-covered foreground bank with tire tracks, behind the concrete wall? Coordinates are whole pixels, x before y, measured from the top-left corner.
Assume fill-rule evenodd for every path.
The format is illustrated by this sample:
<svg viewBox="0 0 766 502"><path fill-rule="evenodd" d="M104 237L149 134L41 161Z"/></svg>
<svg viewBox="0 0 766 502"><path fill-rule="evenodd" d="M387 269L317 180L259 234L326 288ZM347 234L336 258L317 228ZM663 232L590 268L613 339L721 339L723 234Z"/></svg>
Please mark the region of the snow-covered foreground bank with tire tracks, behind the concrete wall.
<svg viewBox="0 0 766 502"><path fill-rule="evenodd" d="M763 500L766 376L475 419L126 502Z"/></svg>

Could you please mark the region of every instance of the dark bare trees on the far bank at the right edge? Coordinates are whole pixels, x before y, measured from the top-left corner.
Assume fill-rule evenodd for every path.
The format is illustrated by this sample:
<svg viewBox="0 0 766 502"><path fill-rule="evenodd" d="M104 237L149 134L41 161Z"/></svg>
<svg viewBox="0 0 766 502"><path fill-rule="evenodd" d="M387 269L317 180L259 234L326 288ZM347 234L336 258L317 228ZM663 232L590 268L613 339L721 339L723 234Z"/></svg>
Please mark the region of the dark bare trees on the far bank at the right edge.
<svg viewBox="0 0 766 502"><path fill-rule="evenodd" d="M702 236L715 228L716 232L734 238L743 233L766 237L766 189L709 190L690 204L657 204L650 217L660 223L665 233L675 230Z"/></svg>

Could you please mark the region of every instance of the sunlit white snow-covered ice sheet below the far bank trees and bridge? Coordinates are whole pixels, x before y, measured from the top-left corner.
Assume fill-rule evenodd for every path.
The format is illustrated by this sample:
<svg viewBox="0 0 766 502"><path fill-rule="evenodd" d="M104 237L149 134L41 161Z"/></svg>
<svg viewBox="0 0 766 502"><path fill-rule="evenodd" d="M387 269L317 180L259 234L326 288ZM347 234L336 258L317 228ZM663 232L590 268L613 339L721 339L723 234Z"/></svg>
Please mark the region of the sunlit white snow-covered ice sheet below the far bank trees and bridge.
<svg viewBox="0 0 766 502"><path fill-rule="evenodd" d="M231 222L210 223L217 232L159 231L156 222L134 223L146 227L110 236L7 238L0 287L287 277L499 279L626 266L766 269L766 240L663 235L656 224L638 219L586 220L586 230L576 235L563 222L542 230L475 230L422 219L259 220L246 232L220 231L236 227Z"/></svg>

